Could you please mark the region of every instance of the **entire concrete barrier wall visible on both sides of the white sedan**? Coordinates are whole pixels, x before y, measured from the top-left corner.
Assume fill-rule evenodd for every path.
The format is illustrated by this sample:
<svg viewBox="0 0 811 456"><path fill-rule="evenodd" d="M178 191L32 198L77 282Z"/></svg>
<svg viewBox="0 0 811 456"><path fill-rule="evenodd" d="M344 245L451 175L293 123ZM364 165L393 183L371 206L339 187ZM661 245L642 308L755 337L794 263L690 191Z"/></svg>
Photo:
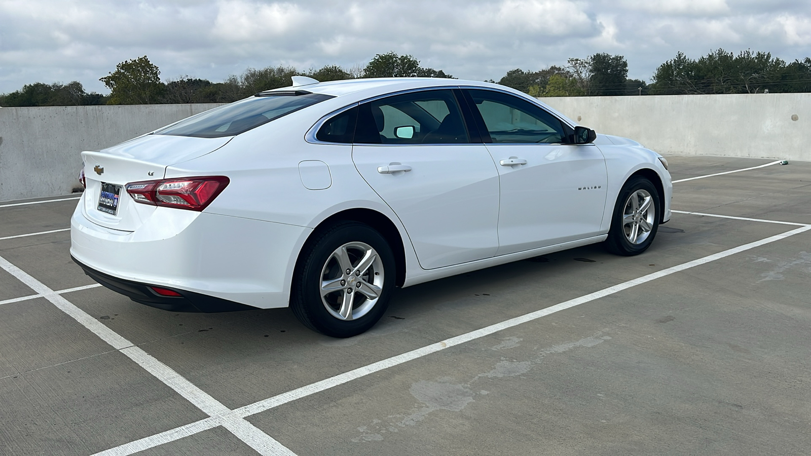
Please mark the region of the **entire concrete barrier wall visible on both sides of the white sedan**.
<svg viewBox="0 0 811 456"><path fill-rule="evenodd" d="M811 161L811 93L540 100L581 125L637 140L663 155ZM70 193L79 186L81 151L118 144L215 106L0 108L0 201Z"/></svg>

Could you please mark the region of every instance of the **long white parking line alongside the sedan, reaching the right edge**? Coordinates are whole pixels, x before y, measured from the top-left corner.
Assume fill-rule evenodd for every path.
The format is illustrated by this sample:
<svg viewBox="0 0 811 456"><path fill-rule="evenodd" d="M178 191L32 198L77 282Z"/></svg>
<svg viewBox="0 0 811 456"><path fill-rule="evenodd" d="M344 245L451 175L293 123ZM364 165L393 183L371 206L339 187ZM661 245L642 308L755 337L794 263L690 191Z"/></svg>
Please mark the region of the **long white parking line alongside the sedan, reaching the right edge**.
<svg viewBox="0 0 811 456"><path fill-rule="evenodd" d="M811 226L801 226L800 228L796 228L794 230L790 230L782 234L775 234L774 236L770 236L766 239L761 239L758 241L754 241L752 243L747 243L738 247L733 247L723 252L714 253L712 255L699 258L697 260L682 263L681 265L676 265L667 269L662 269L661 271L650 273L642 277L637 277L633 280L629 280L628 282L623 282L615 286L609 286L607 288L604 288L603 290L595 291L594 293L590 293L588 295L584 295L579 298L570 299L569 301L565 301L563 303L558 303L549 308L543 308L536 312L531 312L526 315L517 316L509 320L504 320L500 323L496 323L496 325L490 325L483 329L477 329L475 331L471 331L470 333L464 333L457 337L449 338L441 342L436 342L431 345L423 346L422 348L418 348L413 351L408 351L401 355L395 355L392 356L391 358L383 359L376 363L369 364L367 366L363 366L362 368L357 368L349 372L344 372L342 374L329 377L322 381L316 381L315 383L312 383L310 385L305 385L300 388L288 391L286 393L278 394L277 396L273 396L272 398L267 398L260 402L254 402L245 407L240 407L234 410L233 413L234 415L244 419L247 418L248 416L255 415L263 411L268 411L274 407L279 407L288 402L293 402L301 398L306 398L307 396L311 396L312 394L320 393L321 391L324 391L326 389L331 389L334 388L335 386L343 385L347 382L356 380L363 376L367 376L375 372L380 372L384 369L392 368L394 366L406 363L413 359L422 358L423 356L430 355L431 353L436 353L437 351L442 351L452 346L457 346L465 342L470 342L478 338L483 338L484 336L490 335L492 333L503 331L504 329L512 328L513 326L537 320L543 316L548 316L555 312L560 312L568 308L573 308L575 306L579 306L584 303L590 303L595 299L600 299L608 295L613 295L622 290L632 288L633 286L642 285L643 283L651 282L658 278L666 277L673 273L684 271L685 269L694 268L699 265L706 265L711 261L720 260L722 258L726 258L727 256L732 256L735 255L736 253L744 252L755 247L766 245L768 243L774 243L781 239L791 237L795 234L805 233L806 231L809 230L811 230ZM108 450L109 452L102 452L94 454L92 456L98 456L101 454L104 454L105 456L112 455L126 456L128 454L135 454L138 451L145 450L147 448L152 448L157 445L165 444L169 441L174 441L182 437L187 437L191 435L191 433L200 432L195 431L195 427L200 427L201 430L204 430L209 428L207 426L208 424L206 423L206 419L203 419L192 424L187 424L186 426L183 426L181 428L175 428L167 432L161 432L160 434L156 434L151 437L144 437L143 439L140 439L138 441L132 441L130 443L117 446L113 449ZM112 453L112 451L114 450L117 451Z"/></svg>

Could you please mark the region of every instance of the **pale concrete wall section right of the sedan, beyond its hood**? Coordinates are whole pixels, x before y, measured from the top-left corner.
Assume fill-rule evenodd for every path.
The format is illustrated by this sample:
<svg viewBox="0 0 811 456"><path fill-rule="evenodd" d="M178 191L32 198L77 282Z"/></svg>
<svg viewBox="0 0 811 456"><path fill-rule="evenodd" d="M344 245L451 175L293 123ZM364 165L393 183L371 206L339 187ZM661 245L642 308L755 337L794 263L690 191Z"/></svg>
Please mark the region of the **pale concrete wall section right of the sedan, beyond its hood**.
<svg viewBox="0 0 811 456"><path fill-rule="evenodd" d="M539 100L599 133L637 140L663 155L811 161L811 93Z"/></svg>

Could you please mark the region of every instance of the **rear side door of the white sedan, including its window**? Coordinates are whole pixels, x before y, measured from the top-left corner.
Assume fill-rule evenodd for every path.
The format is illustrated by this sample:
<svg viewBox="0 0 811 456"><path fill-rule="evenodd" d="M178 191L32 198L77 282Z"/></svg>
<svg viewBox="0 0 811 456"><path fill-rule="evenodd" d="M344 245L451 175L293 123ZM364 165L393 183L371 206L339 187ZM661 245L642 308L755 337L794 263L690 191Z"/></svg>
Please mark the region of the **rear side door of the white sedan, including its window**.
<svg viewBox="0 0 811 456"><path fill-rule="evenodd" d="M400 217L423 269L496 255L499 174L470 142L452 89L361 103L354 143L355 166Z"/></svg>

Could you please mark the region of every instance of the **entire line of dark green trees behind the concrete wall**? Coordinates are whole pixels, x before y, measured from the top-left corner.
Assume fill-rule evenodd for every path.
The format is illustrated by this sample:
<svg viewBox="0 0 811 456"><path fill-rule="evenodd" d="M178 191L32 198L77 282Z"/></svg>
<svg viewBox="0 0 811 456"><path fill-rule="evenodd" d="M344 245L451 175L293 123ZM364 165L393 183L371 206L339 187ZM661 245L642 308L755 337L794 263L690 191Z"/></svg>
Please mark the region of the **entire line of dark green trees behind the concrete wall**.
<svg viewBox="0 0 811 456"><path fill-rule="evenodd" d="M421 67L411 55L377 54L365 67L327 65L299 71L294 67L248 68L222 82L182 76L161 81L160 69L147 56L118 63L115 71L100 78L109 95L85 92L79 81L68 84L34 83L0 95L0 106L136 105L159 103L229 103L256 92L290 85L293 75L316 80L374 77L453 78L442 70ZM489 82L496 82L489 80ZM508 71L498 84L533 97L594 97L625 95L691 95L717 93L811 92L811 58L785 62L770 53L723 49L691 59L682 53L661 64L647 84L628 79L628 62L622 55L593 54L569 58L563 67L538 71Z"/></svg>

